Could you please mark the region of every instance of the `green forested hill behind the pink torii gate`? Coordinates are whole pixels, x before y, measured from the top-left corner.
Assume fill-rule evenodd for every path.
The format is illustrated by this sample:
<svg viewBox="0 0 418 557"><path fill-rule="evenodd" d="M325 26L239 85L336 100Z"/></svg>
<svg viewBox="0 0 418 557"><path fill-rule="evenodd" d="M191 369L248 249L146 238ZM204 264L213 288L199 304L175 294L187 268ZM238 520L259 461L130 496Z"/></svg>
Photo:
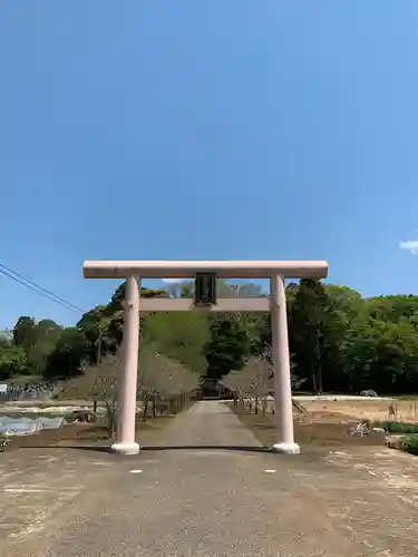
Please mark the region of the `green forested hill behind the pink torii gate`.
<svg viewBox="0 0 418 557"><path fill-rule="evenodd" d="M143 296L185 296L192 284L142 289ZM220 283L220 296L263 295L253 284ZM303 280L286 289L293 373L303 389L379 393L418 392L418 296L362 299L358 292ZM0 380L66 379L116 353L123 336L124 284L107 305L75 328L21 316L13 335L0 336ZM262 313L142 314L142 343L198 374L222 378L249 356L269 351L270 316Z"/></svg>

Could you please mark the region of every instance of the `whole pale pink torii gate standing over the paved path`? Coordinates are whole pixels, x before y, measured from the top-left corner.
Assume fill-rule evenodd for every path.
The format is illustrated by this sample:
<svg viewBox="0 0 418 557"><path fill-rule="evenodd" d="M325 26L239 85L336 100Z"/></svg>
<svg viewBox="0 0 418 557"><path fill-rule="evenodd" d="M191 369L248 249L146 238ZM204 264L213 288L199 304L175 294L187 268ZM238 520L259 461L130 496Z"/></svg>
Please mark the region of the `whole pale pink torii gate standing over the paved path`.
<svg viewBox="0 0 418 557"><path fill-rule="evenodd" d="M119 388L119 419L113 451L137 455L135 439L136 390L139 350L139 312L221 311L271 312L272 361L276 442L272 450L300 452L293 436L290 356L285 302L285 278L324 278L325 261L86 261L85 278L125 278L124 372ZM270 278L270 297L217 299L215 304L195 307L194 300L140 297L140 278L189 278L197 273L218 278Z"/></svg>

